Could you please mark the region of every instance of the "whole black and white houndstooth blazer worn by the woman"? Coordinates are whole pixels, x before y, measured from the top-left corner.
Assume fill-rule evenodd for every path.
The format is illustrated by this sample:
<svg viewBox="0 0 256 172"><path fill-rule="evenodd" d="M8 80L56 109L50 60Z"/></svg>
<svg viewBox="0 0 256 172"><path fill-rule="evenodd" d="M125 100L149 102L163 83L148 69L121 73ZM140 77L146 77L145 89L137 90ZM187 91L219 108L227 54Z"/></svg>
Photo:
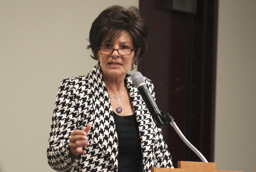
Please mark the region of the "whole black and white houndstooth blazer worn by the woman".
<svg viewBox="0 0 256 172"><path fill-rule="evenodd" d="M155 97L152 82L146 84ZM171 155L163 141L162 131L155 126L136 87L126 74L125 84L139 128L143 171L150 167L173 168ZM91 124L87 135L86 154L72 161L69 158L69 138L75 129ZM58 90L53 112L49 146L49 165L57 171L117 171L118 139L109 94L101 70L94 67L86 76L64 79Z"/></svg>

